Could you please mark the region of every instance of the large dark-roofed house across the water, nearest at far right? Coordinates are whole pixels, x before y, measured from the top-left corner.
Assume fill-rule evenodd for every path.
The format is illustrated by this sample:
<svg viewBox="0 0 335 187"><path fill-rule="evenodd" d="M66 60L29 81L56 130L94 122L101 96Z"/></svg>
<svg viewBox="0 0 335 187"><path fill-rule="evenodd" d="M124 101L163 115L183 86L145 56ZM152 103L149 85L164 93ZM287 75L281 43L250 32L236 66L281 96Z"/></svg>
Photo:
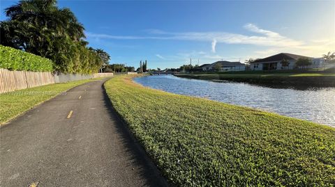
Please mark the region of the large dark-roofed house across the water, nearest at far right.
<svg viewBox="0 0 335 187"><path fill-rule="evenodd" d="M251 70L292 70L295 69L295 63L299 58L309 58L312 65L309 68L322 67L325 63L322 58L312 58L297 54L281 53L267 58L261 58L250 63ZM283 65L283 60L287 60L288 65Z"/></svg>

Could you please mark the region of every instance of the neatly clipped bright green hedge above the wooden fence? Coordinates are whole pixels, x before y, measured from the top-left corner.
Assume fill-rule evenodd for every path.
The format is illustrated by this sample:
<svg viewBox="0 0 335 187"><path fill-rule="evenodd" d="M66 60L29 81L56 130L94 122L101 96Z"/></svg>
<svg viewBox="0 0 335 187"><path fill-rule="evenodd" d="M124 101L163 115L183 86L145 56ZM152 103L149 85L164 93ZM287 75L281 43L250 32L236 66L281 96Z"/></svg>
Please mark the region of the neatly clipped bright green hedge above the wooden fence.
<svg viewBox="0 0 335 187"><path fill-rule="evenodd" d="M52 60L47 58L0 45L0 68L32 72L52 72L52 64Z"/></svg>

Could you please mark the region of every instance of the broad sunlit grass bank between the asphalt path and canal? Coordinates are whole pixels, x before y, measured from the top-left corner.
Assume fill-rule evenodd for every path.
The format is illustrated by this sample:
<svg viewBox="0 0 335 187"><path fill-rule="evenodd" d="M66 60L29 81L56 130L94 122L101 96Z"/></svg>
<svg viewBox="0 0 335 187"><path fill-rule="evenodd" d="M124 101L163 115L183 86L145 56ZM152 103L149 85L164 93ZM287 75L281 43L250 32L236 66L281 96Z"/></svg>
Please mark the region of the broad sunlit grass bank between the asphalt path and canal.
<svg viewBox="0 0 335 187"><path fill-rule="evenodd" d="M335 129L251 108L174 95L119 76L116 111L178 186L334 186Z"/></svg>

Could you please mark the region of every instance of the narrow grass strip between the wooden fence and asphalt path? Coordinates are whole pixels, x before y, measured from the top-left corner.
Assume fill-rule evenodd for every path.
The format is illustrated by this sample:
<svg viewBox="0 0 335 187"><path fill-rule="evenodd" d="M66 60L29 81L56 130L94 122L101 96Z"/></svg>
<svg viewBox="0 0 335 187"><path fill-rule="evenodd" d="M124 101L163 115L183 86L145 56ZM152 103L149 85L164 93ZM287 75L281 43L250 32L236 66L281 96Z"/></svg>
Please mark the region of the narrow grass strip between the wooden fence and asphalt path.
<svg viewBox="0 0 335 187"><path fill-rule="evenodd" d="M38 86L35 88L2 93L0 94L0 124L8 122L8 120L11 120L17 115L28 111L47 99L51 99L52 97L59 95L61 92L65 92L70 88L93 80L96 79L71 81L68 83L55 83L46 86Z"/></svg>

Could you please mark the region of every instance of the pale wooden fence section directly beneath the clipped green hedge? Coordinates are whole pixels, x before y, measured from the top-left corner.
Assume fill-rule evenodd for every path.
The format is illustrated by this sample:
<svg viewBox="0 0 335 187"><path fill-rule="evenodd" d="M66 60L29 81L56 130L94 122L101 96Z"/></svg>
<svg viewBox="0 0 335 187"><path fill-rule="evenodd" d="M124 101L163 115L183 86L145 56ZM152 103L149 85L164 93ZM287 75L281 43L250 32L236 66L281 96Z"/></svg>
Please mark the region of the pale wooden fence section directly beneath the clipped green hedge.
<svg viewBox="0 0 335 187"><path fill-rule="evenodd" d="M0 93L54 83L51 72L10 71L0 68Z"/></svg>

